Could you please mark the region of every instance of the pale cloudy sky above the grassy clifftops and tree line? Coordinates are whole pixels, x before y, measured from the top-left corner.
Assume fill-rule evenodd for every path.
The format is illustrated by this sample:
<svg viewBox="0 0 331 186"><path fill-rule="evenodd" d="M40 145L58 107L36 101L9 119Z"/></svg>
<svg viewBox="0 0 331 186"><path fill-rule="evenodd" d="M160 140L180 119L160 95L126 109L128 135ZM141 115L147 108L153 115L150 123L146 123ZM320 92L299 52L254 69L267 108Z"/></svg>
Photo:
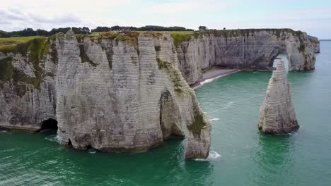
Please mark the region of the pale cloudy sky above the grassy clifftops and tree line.
<svg viewBox="0 0 331 186"><path fill-rule="evenodd" d="M283 28L331 39L330 0L7 0L0 30L162 25Z"/></svg>

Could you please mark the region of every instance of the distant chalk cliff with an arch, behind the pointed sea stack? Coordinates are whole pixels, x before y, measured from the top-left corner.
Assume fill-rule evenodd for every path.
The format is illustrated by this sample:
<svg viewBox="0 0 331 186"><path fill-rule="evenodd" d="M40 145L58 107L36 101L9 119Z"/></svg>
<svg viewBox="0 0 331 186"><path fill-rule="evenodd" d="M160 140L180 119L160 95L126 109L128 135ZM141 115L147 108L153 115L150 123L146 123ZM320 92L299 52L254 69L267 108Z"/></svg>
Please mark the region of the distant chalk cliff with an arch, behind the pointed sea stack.
<svg viewBox="0 0 331 186"><path fill-rule="evenodd" d="M270 70L281 53L287 54L290 71L314 69L319 51L317 38L289 29L217 30L178 40L180 70L189 85L212 66Z"/></svg>

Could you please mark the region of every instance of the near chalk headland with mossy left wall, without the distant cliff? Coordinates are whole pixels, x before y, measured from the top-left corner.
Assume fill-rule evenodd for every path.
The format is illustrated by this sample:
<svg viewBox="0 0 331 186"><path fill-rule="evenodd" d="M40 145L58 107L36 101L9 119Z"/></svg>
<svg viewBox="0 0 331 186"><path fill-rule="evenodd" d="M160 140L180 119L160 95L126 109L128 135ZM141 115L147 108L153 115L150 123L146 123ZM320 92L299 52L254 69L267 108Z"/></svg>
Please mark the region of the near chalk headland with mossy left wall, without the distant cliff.
<svg viewBox="0 0 331 186"><path fill-rule="evenodd" d="M76 149L137 152L184 137L186 123L185 156L207 158L211 126L178 70L170 35L67 32L44 43L45 56L39 48L1 53L11 71L1 78L1 127L37 130L54 118L59 140Z"/></svg>

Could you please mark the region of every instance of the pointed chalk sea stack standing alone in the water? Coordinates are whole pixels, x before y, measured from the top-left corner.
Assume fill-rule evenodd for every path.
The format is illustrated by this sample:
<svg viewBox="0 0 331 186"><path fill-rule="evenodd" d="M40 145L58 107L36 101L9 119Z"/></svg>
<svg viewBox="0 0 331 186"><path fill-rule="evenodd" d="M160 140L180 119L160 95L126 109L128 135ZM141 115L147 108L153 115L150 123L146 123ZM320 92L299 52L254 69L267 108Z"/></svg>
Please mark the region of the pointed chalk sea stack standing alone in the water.
<svg viewBox="0 0 331 186"><path fill-rule="evenodd" d="M283 61L278 63L269 80L258 127L270 135L284 135L299 128Z"/></svg>

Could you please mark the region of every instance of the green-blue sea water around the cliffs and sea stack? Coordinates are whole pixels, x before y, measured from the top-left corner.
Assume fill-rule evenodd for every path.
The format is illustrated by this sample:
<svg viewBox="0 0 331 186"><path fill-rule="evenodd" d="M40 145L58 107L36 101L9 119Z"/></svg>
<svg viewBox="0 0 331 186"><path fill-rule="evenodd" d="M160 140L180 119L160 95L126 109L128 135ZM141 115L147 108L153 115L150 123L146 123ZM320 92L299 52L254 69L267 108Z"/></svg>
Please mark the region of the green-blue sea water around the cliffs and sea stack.
<svg viewBox="0 0 331 186"><path fill-rule="evenodd" d="M288 75L301 125L291 135L258 132L271 73L240 72L197 89L212 119L208 161L185 161L185 140L106 154L62 147L54 132L1 132L0 185L331 185L331 42L321 49L316 70Z"/></svg>

